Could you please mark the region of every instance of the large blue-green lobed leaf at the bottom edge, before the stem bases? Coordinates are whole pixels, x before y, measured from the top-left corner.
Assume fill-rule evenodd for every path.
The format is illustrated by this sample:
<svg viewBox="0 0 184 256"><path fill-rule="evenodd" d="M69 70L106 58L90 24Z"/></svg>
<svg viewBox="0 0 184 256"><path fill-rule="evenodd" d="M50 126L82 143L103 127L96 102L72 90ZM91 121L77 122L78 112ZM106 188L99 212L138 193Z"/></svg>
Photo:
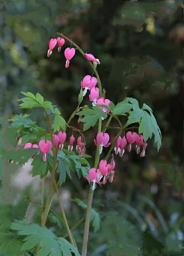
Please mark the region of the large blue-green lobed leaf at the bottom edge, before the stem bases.
<svg viewBox="0 0 184 256"><path fill-rule="evenodd" d="M64 238L56 237L46 227L40 227L37 224L25 225L19 221L12 223L11 229L19 231L20 236L26 236L23 240L22 251L30 250L40 244L38 256L72 256L72 252L75 256L81 256L72 244Z"/></svg>

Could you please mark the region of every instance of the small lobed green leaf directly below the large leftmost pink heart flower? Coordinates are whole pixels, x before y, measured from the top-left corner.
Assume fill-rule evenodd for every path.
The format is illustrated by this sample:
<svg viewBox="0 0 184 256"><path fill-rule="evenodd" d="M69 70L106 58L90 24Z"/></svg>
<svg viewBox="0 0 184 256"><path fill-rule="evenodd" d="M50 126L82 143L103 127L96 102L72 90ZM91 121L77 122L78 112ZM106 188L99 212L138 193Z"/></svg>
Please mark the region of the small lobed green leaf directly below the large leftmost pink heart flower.
<svg viewBox="0 0 184 256"><path fill-rule="evenodd" d="M31 163L31 165L33 165L33 177L40 174L42 174L42 177L44 177L47 174L47 161L43 161L42 157L43 154L39 154Z"/></svg>

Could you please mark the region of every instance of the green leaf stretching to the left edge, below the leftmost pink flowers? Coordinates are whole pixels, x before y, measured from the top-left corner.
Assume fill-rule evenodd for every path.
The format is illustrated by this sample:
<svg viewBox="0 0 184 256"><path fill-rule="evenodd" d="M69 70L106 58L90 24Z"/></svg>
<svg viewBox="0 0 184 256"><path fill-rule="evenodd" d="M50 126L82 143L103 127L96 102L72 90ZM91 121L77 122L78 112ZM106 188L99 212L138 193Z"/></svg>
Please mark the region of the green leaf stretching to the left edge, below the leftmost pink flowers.
<svg viewBox="0 0 184 256"><path fill-rule="evenodd" d="M19 164L24 164L26 163L34 154L38 152L38 148L26 148L23 150L2 150L1 154L6 158L6 159L12 159L13 162L18 162Z"/></svg>

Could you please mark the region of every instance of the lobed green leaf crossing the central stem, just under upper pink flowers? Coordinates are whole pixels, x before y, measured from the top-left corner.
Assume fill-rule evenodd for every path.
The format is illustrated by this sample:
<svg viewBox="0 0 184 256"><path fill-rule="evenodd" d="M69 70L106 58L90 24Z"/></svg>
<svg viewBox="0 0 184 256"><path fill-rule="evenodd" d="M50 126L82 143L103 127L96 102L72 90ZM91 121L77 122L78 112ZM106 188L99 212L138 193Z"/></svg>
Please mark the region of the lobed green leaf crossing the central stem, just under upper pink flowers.
<svg viewBox="0 0 184 256"><path fill-rule="evenodd" d="M87 131L90 127L95 126L99 118L107 118L107 114L98 107L84 108L82 111L77 112L76 115L86 115L86 117L81 119L81 122L84 122L83 131Z"/></svg>

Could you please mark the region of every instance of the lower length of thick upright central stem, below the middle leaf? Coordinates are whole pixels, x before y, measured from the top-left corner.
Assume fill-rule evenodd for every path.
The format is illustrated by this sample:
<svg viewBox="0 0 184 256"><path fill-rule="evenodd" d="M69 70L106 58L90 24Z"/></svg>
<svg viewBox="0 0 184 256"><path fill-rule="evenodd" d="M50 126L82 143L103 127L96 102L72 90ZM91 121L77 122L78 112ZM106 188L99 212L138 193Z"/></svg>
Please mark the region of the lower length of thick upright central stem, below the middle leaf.
<svg viewBox="0 0 184 256"><path fill-rule="evenodd" d="M98 120L98 132L102 130L102 119L100 118ZM95 164L94 167L98 167L100 159L100 154L99 154L99 147L96 147L96 156L95 156ZM85 225L84 225L84 236L83 236L83 242L82 242L82 256L86 256L87 250L88 250L88 237L89 237L89 223L90 223L90 218L91 218L91 205L93 202L93 194L94 190L92 189L92 184L89 188L89 196L88 196L88 206L87 206L87 211L86 211L86 220L85 220Z"/></svg>

